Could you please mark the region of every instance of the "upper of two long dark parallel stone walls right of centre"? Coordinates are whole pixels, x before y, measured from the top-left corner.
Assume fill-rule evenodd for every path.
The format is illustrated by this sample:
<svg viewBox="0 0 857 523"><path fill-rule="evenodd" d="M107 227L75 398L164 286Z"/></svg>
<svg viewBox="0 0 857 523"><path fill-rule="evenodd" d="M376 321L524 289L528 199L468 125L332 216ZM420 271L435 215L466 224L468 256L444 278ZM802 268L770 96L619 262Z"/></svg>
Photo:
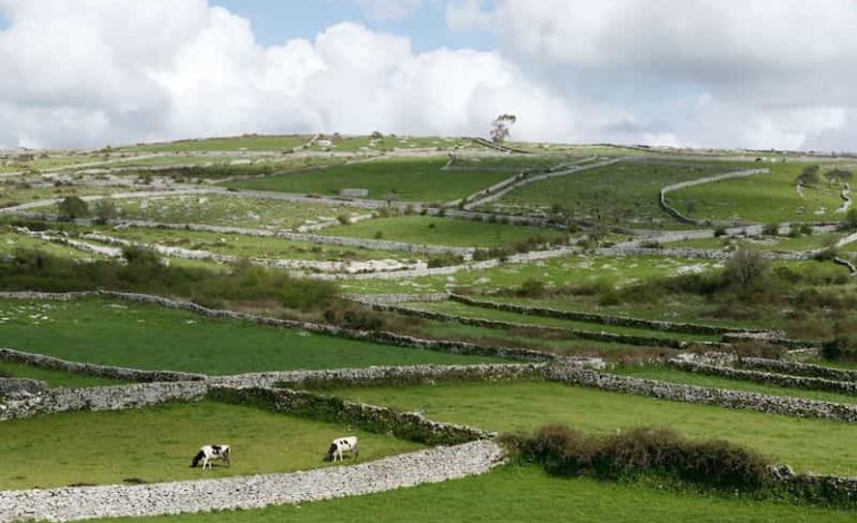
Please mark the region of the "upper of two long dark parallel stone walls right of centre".
<svg viewBox="0 0 857 523"><path fill-rule="evenodd" d="M594 313L581 313L574 310L562 310L548 307L528 307L524 305L504 304L496 302L489 302L482 299L474 299L469 296L459 294L451 294L450 299L459 302L464 305L473 307L492 308L496 310L506 310L510 313L526 314L531 316L544 316L549 318L571 319L575 322L588 322L603 325L617 325L620 327L636 327L648 328L650 330L660 330L664 333L683 333L683 334L700 334L700 335L723 335L728 333L736 333L733 328L721 327L717 325L699 325L687 324L676 322L662 322L658 319L640 319L629 318L622 316L608 316L603 314ZM768 330L748 329L741 330L741 333L768 333Z"/></svg>

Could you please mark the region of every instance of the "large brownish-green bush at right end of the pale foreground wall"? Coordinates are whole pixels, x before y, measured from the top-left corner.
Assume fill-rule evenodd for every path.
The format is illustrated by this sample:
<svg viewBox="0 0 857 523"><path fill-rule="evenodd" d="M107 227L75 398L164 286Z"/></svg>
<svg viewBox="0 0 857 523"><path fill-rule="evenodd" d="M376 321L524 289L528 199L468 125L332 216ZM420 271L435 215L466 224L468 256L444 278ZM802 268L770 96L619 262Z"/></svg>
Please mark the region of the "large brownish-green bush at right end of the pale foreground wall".
<svg viewBox="0 0 857 523"><path fill-rule="evenodd" d="M668 428L640 427L610 436L548 425L532 435L505 436L521 460L555 475L605 480L658 475L713 489L756 491L768 476L767 458L719 440L692 441Z"/></svg>

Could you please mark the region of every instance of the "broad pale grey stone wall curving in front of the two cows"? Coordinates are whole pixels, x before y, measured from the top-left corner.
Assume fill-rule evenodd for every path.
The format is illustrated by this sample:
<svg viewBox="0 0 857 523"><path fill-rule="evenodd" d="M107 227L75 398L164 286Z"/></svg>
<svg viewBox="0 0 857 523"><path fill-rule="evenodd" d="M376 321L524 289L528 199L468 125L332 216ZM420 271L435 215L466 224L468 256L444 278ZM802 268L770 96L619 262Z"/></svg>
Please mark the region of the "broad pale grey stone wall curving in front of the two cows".
<svg viewBox="0 0 857 523"><path fill-rule="evenodd" d="M0 522L155 516L306 503L484 474L502 463L502 455L496 443L483 440L292 474L3 491Z"/></svg>

